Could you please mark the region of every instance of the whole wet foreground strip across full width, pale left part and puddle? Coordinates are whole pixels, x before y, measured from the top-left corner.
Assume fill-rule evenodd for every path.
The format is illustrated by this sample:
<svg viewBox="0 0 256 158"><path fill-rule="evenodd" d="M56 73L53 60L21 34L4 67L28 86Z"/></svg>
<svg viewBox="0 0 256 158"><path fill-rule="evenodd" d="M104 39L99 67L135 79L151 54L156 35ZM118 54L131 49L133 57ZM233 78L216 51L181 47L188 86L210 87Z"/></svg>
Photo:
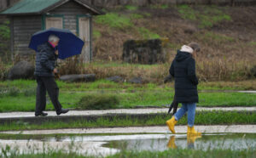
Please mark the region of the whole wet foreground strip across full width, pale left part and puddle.
<svg viewBox="0 0 256 158"><path fill-rule="evenodd" d="M120 150L163 151L170 148L195 150L246 150L256 148L256 134L186 134L91 135L43 139L0 139L0 155L9 145L19 153L43 153L49 150L76 152L82 155L113 155ZM45 150L48 149L48 150Z"/></svg>

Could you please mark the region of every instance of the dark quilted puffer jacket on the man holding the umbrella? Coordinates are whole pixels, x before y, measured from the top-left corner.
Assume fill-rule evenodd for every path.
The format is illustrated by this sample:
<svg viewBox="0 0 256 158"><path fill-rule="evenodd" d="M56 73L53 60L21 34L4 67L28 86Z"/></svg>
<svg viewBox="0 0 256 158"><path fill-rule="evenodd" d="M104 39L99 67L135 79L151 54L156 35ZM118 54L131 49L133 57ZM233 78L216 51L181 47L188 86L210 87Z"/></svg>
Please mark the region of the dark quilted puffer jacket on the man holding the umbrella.
<svg viewBox="0 0 256 158"><path fill-rule="evenodd" d="M53 70L55 69L56 59L55 48L49 42L38 46L35 76L54 76Z"/></svg>

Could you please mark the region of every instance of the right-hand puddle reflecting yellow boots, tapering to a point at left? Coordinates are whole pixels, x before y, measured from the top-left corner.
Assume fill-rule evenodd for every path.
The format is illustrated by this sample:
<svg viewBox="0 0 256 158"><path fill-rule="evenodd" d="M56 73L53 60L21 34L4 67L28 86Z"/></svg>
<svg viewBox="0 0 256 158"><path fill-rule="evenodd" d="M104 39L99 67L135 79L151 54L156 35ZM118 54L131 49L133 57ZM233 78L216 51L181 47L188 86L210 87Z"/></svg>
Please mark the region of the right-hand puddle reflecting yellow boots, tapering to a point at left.
<svg viewBox="0 0 256 158"><path fill-rule="evenodd" d="M164 151L168 149L195 149L195 150L247 150L256 148L256 134L208 134L201 137L187 135L163 135L157 138L131 138L114 140L104 145L119 150L150 150Z"/></svg>

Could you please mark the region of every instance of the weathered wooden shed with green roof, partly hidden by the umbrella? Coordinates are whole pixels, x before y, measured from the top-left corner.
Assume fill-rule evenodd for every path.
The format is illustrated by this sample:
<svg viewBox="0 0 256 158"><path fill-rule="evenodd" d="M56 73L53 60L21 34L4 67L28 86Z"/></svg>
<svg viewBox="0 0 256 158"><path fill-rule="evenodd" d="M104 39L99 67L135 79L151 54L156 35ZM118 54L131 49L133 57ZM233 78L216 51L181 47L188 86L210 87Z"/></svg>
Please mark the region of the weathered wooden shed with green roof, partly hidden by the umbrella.
<svg viewBox="0 0 256 158"><path fill-rule="evenodd" d="M86 0L20 0L2 15L10 19L11 52L19 56L29 56L32 49L28 44L32 34L49 27L65 28L73 31L84 41L82 58L90 62L92 58L92 16L104 14Z"/></svg>

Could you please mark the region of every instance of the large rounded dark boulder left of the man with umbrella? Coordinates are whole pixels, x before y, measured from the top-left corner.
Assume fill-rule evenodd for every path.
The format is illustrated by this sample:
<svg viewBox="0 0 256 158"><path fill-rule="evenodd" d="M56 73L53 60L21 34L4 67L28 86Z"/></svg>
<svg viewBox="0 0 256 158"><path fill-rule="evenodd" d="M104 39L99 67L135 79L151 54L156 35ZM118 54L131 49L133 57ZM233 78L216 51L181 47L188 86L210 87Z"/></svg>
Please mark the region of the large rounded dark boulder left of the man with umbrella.
<svg viewBox="0 0 256 158"><path fill-rule="evenodd" d="M32 79L34 76L35 67L27 61L20 61L9 70L9 80L15 79Z"/></svg>

